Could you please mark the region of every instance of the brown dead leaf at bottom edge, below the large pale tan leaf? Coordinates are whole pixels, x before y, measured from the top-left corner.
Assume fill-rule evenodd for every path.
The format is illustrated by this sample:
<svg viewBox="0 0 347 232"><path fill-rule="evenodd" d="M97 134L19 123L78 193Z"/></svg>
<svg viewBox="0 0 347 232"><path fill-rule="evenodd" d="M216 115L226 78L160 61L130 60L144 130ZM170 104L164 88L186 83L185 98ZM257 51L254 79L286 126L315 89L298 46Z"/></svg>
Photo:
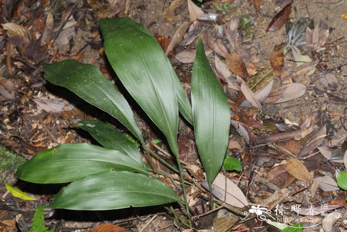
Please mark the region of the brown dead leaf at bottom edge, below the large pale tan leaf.
<svg viewBox="0 0 347 232"><path fill-rule="evenodd" d="M237 215L234 215L226 209L221 209L213 220L213 230L215 232L228 231L238 220L239 217Z"/></svg>

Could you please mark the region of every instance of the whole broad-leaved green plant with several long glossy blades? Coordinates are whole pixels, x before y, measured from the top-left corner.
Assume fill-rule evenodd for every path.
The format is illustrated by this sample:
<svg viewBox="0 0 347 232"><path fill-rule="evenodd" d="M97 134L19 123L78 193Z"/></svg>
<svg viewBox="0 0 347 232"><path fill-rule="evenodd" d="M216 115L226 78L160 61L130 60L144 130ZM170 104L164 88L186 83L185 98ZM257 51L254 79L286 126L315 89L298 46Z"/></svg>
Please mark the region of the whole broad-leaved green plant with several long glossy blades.
<svg viewBox="0 0 347 232"><path fill-rule="evenodd" d="M73 120L103 147L63 144L39 152L18 167L16 176L34 183L72 182L49 208L108 210L178 202L189 217L176 142L178 112L194 125L208 185L217 176L228 145L230 106L209 66L199 38L192 70L191 101L168 58L150 32L129 18L101 19L105 53L120 81L166 136L178 164L184 200L157 179L138 148L113 126L98 120ZM94 66L66 60L45 64L45 78L64 86L121 122L149 151L133 112L114 84Z"/></svg>

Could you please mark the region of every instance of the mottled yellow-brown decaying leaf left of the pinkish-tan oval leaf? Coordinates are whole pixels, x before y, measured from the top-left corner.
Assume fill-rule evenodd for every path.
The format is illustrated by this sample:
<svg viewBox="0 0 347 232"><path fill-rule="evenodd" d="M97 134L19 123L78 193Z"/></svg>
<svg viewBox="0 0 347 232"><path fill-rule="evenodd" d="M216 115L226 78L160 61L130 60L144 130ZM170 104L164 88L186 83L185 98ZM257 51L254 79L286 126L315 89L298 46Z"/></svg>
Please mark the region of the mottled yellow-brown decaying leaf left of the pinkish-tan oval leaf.
<svg viewBox="0 0 347 232"><path fill-rule="evenodd" d="M257 92L267 86L274 78L275 75L271 68L263 68L257 74L249 78L247 85L253 92Z"/></svg>

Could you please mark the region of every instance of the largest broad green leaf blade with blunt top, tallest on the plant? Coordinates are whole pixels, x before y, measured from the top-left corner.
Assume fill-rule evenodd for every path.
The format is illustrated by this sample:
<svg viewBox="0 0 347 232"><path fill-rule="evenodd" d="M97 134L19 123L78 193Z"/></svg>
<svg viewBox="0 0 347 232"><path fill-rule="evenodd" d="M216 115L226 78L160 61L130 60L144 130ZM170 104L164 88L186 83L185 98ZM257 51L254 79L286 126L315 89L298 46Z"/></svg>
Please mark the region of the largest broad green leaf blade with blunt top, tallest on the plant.
<svg viewBox="0 0 347 232"><path fill-rule="evenodd" d="M120 81L178 156L178 86L173 86L177 77L172 77L174 72L163 50L146 28L129 18L101 19L100 28L105 53Z"/></svg>

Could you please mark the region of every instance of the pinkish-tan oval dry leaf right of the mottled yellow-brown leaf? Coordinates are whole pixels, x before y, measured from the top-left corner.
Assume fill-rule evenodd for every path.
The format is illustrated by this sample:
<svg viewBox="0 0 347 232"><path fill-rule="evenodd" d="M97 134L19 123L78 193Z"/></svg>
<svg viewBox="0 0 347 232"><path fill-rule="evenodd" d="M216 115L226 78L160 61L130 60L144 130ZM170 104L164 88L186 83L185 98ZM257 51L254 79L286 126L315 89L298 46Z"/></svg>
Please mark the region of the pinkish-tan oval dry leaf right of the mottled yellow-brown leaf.
<svg viewBox="0 0 347 232"><path fill-rule="evenodd" d="M300 83L291 83L272 91L264 102L267 104L282 103L299 98L305 92L305 85Z"/></svg>

